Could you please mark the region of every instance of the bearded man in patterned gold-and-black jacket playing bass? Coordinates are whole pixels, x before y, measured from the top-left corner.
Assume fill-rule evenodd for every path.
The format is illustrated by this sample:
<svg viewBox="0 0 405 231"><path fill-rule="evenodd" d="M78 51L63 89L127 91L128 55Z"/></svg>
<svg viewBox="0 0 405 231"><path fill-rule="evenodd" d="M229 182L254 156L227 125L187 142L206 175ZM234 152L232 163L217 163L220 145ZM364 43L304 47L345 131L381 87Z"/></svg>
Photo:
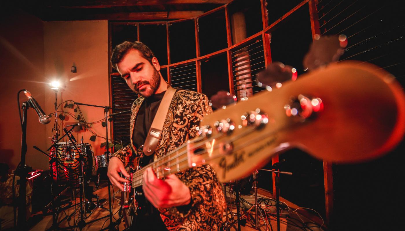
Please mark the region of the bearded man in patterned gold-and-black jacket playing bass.
<svg viewBox="0 0 405 231"><path fill-rule="evenodd" d="M211 113L207 96L195 91L177 89L166 114L158 146L145 155L141 146L156 115L168 84L160 74L153 52L142 42L123 42L111 55L111 64L135 93L141 95L132 104L130 144L114 153L109 161L111 183L124 190L129 177L125 167L145 166L156 161L187 140L197 136L202 118ZM192 167L159 179L152 167L144 170L143 195L147 208L142 208L132 221L138 230L219 230L225 208L222 188L209 165Z"/></svg>

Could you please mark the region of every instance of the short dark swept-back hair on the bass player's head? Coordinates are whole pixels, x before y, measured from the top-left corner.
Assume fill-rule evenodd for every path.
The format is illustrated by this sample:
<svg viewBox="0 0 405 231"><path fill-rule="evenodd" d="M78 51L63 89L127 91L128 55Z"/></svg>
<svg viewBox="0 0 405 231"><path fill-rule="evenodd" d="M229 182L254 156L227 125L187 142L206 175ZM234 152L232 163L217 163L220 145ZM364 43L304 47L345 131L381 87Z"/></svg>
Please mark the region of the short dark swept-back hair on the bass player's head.
<svg viewBox="0 0 405 231"><path fill-rule="evenodd" d="M128 53L128 51L135 49L138 50L139 53L141 53L142 57L147 59L150 64L152 64L152 58L155 57L153 52L147 45L145 45L143 42L135 41L135 42L128 42L125 41L117 47L114 48L113 53L111 55L111 66L113 68L117 68L117 64L119 64L120 61L122 61L122 58Z"/></svg>

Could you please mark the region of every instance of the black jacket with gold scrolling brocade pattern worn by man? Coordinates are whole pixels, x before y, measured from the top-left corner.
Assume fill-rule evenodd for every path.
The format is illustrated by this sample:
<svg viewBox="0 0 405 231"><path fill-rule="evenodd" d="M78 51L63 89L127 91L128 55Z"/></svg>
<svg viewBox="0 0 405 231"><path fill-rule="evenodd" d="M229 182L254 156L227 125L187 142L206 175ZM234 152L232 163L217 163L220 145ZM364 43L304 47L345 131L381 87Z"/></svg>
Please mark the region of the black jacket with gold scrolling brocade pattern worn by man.
<svg viewBox="0 0 405 231"><path fill-rule="evenodd" d="M132 104L130 120L130 140L128 146L118 150L118 157L125 166L136 167L141 153L132 142L136 115L145 98L139 97ZM164 121L162 135L155 151L154 160L175 150L187 140L196 136L196 127L203 116L212 113L206 95L186 90L177 90ZM209 165L197 166L176 174L188 186L191 193L190 209L177 207L158 209L168 230L219 230L225 199L215 171Z"/></svg>

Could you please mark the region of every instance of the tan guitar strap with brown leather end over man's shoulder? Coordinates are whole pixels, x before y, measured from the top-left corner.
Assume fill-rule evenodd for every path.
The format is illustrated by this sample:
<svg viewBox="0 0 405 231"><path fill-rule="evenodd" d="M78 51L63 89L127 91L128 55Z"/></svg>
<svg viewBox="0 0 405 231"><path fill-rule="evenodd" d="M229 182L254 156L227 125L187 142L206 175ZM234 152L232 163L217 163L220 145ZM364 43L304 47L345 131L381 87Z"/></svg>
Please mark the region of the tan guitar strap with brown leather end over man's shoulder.
<svg viewBox="0 0 405 231"><path fill-rule="evenodd" d="M166 119L166 115L175 92L176 89L168 86L163 95L158 111L156 112L155 118L152 121L151 128L146 136L145 143L143 144L143 153L147 156L152 155L152 153L155 152L156 148L158 147L158 141L160 135L162 134L163 123Z"/></svg>

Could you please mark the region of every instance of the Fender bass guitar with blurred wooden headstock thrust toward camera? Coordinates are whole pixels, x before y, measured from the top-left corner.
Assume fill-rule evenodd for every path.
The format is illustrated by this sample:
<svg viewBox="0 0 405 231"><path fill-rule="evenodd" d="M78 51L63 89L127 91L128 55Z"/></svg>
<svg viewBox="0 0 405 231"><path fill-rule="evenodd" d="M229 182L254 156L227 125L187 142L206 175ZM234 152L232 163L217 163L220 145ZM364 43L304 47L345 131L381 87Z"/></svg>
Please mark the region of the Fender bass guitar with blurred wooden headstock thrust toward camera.
<svg viewBox="0 0 405 231"><path fill-rule="evenodd" d="M339 163L375 159L403 137L405 95L394 77L377 66L342 61L217 110L197 129L197 138L145 168L152 166L163 178L208 164L220 182L228 182L251 174L288 148ZM124 185L126 225L142 208L136 197L145 168L132 172Z"/></svg>

